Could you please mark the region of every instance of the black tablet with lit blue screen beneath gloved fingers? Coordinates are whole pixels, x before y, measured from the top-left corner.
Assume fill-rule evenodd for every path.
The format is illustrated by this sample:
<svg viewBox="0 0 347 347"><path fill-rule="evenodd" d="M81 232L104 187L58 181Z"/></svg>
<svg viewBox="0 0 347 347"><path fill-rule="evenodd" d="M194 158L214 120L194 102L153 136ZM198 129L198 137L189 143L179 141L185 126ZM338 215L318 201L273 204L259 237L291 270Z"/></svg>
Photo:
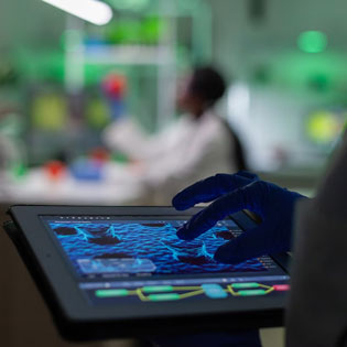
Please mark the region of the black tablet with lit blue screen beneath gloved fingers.
<svg viewBox="0 0 347 347"><path fill-rule="evenodd" d="M241 212L180 240L198 210L13 206L6 230L68 339L281 325L288 256L216 262L216 249L256 223Z"/></svg>

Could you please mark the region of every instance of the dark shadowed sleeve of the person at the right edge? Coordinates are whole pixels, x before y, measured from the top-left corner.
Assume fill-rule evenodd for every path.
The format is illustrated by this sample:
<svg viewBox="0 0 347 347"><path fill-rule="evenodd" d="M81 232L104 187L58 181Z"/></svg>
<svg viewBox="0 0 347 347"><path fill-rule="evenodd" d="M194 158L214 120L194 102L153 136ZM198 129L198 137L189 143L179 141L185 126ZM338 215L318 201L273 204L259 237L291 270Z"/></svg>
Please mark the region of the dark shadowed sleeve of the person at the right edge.
<svg viewBox="0 0 347 347"><path fill-rule="evenodd" d="M289 347L345 346L347 333L347 143L317 196L296 216Z"/></svg>

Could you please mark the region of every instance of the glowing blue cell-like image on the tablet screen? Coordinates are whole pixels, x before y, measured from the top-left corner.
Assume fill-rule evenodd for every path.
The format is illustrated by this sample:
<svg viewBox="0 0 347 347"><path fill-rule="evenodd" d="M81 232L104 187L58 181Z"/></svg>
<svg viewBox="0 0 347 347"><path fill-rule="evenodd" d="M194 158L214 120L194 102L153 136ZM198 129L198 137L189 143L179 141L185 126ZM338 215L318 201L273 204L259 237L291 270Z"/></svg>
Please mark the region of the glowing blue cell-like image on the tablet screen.
<svg viewBox="0 0 347 347"><path fill-rule="evenodd" d="M180 240L183 220L47 220L82 276L139 276L224 272L261 272L259 259L237 265L214 260L217 248L242 232L224 220L193 241Z"/></svg>

